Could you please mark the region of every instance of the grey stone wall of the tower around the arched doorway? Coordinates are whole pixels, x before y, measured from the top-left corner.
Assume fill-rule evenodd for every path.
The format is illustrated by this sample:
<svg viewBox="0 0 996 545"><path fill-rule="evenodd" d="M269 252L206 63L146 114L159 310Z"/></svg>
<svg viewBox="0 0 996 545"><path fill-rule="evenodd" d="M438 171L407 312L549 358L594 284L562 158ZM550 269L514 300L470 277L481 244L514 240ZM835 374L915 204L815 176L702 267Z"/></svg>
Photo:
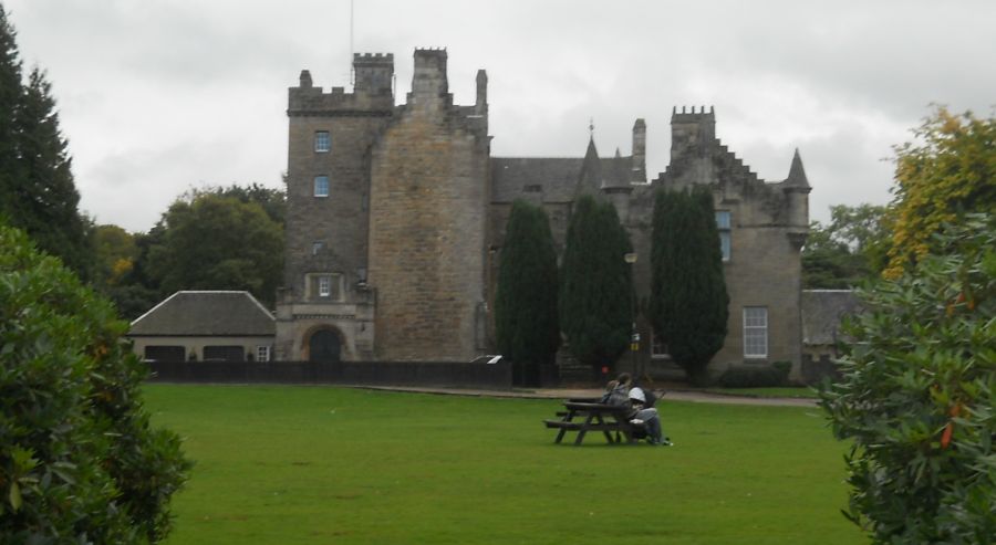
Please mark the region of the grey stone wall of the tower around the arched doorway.
<svg viewBox="0 0 996 545"><path fill-rule="evenodd" d="M284 287L277 306L276 357L304 359L308 337L324 328L342 342L347 359L373 350L373 303L362 289L367 268L370 149L394 115L392 55L355 55L356 90L324 92L303 71L288 93L288 171ZM328 151L315 134L329 133ZM329 179L328 197L314 178ZM309 301L310 273L340 275L340 296ZM359 285L359 286L357 286Z"/></svg>

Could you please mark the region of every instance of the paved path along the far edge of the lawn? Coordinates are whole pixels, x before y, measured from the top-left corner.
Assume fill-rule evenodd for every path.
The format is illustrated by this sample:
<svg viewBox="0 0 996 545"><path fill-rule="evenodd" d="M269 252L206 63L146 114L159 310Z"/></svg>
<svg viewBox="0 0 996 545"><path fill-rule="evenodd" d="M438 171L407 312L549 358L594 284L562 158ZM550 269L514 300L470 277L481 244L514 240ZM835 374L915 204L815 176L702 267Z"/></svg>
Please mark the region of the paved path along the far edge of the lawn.
<svg viewBox="0 0 996 545"><path fill-rule="evenodd" d="M504 397L504 398L523 398L523 399L567 399L567 398L596 398L604 390L581 389L581 388L542 388L536 390L513 389L513 390L478 390L463 388L417 388L417 387L397 387L397 386L353 386L354 388L365 388L372 390L390 390L390 391L414 391L421 394L438 394L449 396L473 396L473 397ZM746 396L727 396L722 394L708 394L694 390L667 390L664 395L665 400L674 401L692 401L696 403L723 403L723 405L765 405L772 407L816 407L816 399L806 398L760 398Z"/></svg>

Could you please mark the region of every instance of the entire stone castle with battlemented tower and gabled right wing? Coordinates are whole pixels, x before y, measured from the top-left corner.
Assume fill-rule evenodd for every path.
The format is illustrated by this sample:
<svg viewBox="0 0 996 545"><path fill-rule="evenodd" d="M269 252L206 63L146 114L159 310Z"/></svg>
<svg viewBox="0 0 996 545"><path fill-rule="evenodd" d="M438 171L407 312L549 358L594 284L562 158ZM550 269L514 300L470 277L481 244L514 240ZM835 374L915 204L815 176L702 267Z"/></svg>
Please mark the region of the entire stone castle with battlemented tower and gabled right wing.
<svg viewBox="0 0 996 545"><path fill-rule="evenodd" d="M562 250L583 193L611 201L637 253L637 294L650 291L654 192L713 189L730 295L726 365L801 356L799 251L810 191L798 153L788 178L757 178L716 138L704 107L674 109L671 164L646 175L646 127L629 156L491 157L488 78L475 104L453 104L445 50L416 50L412 92L395 105L392 54L356 54L354 87L330 92L301 72L289 90L287 255L276 359L467 361L494 352L490 301L516 199L542 206ZM642 317L643 339L654 339ZM666 347L637 358L666 368ZM627 358L629 359L629 358ZM652 369L654 367L651 367Z"/></svg>

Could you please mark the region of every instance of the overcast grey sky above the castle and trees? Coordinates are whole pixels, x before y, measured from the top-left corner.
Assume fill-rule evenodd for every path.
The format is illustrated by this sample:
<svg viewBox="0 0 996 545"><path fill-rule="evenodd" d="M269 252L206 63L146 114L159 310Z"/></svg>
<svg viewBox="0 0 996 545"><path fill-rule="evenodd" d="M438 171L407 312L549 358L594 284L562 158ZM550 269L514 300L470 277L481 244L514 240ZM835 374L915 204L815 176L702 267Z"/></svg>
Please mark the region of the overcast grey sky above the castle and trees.
<svg viewBox="0 0 996 545"><path fill-rule="evenodd" d="M349 87L350 0L0 0L27 66L45 69L81 208L149 229L190 187L287 168L287 87ZM996 105L996 1L354 0L353 50L446 48L457 104L489 76L495 156L670 159L673 106L712 105L716 134L769 181L799 148L813 219L885 203L891 146L941 103Z"/></svg>

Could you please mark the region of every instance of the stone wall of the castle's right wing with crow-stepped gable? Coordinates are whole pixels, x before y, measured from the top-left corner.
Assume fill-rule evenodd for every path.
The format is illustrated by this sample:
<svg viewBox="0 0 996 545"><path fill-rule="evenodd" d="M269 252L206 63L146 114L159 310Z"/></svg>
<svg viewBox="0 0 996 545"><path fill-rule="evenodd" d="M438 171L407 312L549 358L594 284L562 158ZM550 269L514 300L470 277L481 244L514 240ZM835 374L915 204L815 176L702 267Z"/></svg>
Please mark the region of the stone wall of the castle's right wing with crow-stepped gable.
<svg viewBox="0 0 996 545"><path fill-rule="evenodd" d="M801 167L800 167L801 169ZM805 176L805 175L802 175ZM653 199L658 188L682 190L706 185L717 211L730 213L730 258L724 262L729 294L728 333L710 369L729 365L792 361L791 378L799 378L801 361L801 256L808 232L808 186L769 184L758 179L715 137L715 117L702 108L675 113L672 118L672 160L650 186L634 191L630 233L640 260L634 266L640 296L650 295L650 253ZM760 306L768 313L768 354L744 356L744 308ZM650 356L650 324L637 321L643 338L641 358Z"/></svg>

